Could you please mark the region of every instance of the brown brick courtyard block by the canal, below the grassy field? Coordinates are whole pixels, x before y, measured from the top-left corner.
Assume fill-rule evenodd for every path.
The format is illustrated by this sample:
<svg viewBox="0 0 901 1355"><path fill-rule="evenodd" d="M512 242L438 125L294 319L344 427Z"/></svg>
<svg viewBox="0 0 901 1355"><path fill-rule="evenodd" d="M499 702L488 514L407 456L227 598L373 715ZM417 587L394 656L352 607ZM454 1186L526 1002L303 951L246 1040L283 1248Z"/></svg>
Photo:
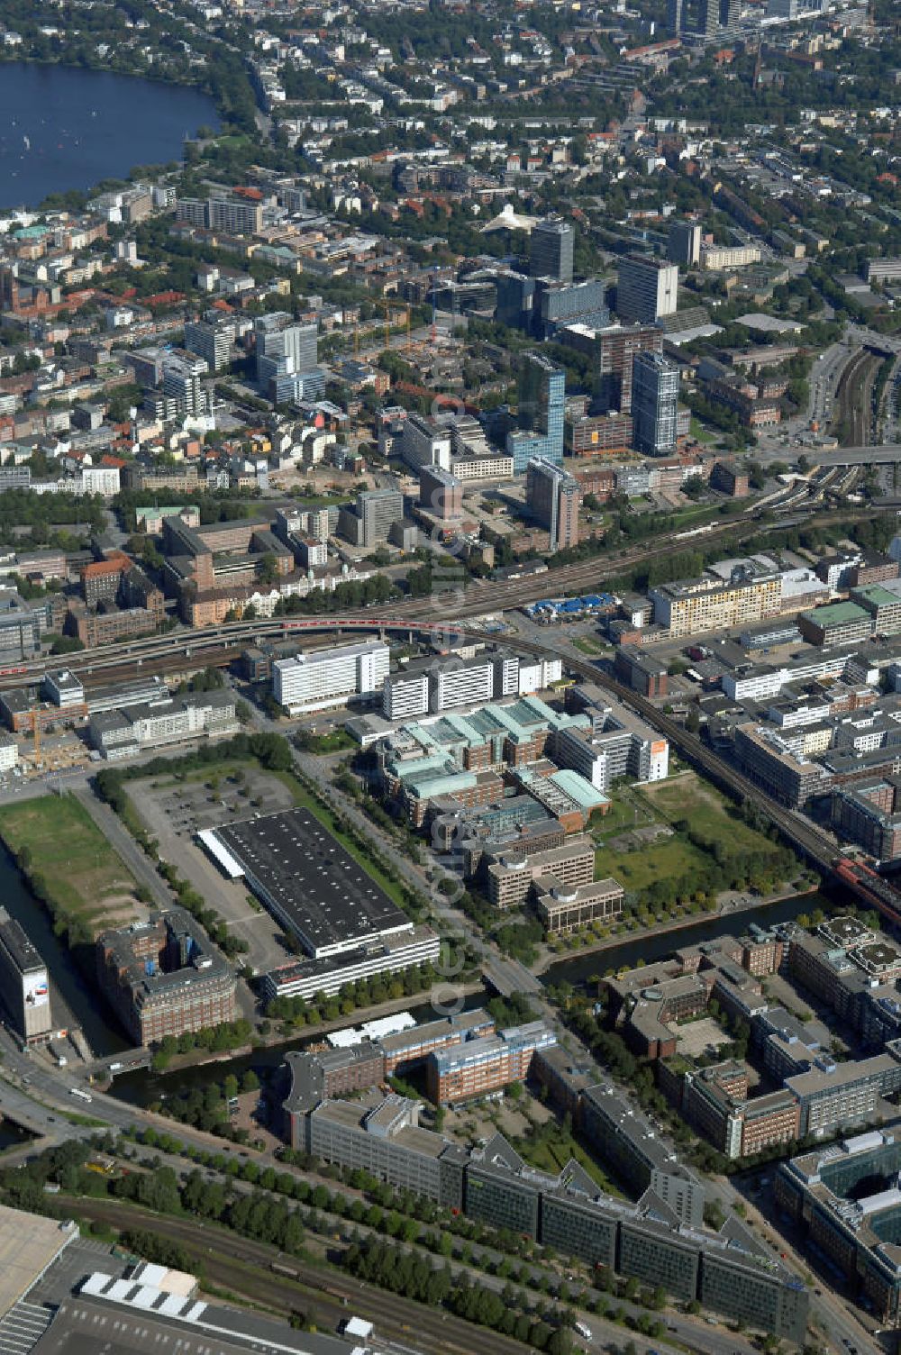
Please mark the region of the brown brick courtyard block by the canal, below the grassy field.
<svg viewBox="0 0 901 1355"><path fill-rule="evenodd" d="M98 982L135 1045L234 1020L234 970L182 908L104 932Z"/></svg>

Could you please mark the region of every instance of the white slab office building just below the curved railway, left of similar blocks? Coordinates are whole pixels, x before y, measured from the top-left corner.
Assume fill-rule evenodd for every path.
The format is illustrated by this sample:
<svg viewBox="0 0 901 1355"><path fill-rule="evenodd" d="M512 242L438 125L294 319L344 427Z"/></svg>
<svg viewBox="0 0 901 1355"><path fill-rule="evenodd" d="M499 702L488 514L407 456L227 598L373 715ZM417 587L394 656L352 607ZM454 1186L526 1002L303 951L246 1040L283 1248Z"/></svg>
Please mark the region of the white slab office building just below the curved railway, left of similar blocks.
<svg viewBox="0 0 901 1355"><path fill-rule="evenodd" d="M381 640L313 649L272 664L272 695L297 713L374 696L387 678L390 649Z"/></svg>

